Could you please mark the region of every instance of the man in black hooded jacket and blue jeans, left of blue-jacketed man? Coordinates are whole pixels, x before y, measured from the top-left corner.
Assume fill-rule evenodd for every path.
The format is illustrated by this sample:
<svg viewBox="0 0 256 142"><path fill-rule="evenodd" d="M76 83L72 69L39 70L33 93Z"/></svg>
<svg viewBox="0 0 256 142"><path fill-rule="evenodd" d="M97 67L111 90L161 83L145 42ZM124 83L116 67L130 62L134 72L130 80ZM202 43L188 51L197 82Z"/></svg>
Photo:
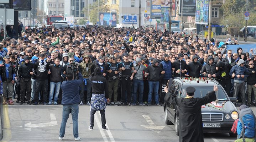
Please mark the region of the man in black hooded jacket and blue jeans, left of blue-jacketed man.
<svg viewBox="0 0 256 142"><path fill-rule="evenodd" d="M161 74L164 74L165 71L158 66L158 60L153 59L153 64L148 66L145 70L145 73L148 73L148 106L151 105L151 97L154 90L155 95L155 104L161 106L158 100L158 89L159 89L159 81L161 80Z"/></svg>

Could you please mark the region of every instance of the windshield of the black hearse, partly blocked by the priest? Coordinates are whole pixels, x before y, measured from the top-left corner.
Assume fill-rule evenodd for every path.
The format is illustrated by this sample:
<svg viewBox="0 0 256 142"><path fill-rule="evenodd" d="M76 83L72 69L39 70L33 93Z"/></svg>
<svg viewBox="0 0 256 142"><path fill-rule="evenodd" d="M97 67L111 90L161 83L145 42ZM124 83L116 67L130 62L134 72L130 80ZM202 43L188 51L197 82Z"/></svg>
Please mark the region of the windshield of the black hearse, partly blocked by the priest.
<svg viewBox="0 0 256 142"><path fill-rule="evenodd" d="M179 97L186 97L186 88L188 86L183 86L181 89L181 92L179 93ZM225 92L219 87L219 91L216 92L216 98L220 101L228 100L227 96L225 95ZM212 91L212 86L197 86L195 87L195 93L194 98L202 98L204 97L209 91Z"/></svg>

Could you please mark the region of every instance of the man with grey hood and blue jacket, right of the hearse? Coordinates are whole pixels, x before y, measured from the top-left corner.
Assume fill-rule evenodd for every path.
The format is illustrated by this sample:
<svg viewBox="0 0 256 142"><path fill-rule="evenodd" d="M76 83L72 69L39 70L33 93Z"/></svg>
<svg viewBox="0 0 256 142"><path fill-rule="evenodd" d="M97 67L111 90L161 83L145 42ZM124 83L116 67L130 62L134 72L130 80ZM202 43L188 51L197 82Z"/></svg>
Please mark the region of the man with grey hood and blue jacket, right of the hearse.
<svg viewBox="0 0 256 142"><path fill-rule="evenodd" d="M237 94L240 92L242 96L242 103L245 104L245 75L249 74L249 71L246 69L245 61L240 59L237 65L233 66L230 70L229 75L234 78L234 96L237 97ZM236 102L234 102L236 105ZM247 104L248 105L248 104Z"/></svg>

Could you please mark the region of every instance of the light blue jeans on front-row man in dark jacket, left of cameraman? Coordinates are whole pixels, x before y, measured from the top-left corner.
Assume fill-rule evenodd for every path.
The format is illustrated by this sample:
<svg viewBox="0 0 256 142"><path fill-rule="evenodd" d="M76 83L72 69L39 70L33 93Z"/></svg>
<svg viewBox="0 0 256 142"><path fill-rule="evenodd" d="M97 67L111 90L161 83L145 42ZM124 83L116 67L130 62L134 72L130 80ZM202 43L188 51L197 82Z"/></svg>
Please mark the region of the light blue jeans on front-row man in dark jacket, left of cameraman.
<svg viewBox="0 0 256 142"><path fill-rule="evenodd" d="M52 102L53 93L54 93L53 101L54 102L58 101L59 89L61 89L61 81L56 82L56 83L55 82L50 82L49 102Z"/></svg>

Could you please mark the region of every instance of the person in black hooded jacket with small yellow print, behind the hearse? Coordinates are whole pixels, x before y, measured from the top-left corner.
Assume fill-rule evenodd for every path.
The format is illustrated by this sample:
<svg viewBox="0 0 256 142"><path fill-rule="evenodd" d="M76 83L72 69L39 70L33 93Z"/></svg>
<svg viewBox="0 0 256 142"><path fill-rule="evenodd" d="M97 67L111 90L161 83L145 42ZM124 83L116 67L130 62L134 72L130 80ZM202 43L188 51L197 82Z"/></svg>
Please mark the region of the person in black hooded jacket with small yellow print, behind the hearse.
<svg viewBox="0 0 256 142"><path fill-rule="evenodd" d="M225 89L228 96L232 97L230 95L232 84L231 84L231 78L229 75L229 71L230 69L232 69L232 66L229 64L229 62L222 62L222 61L217 61L216 65L218 67L218 71L220 72L219 77L217 77L219 79L218 82Z"/></svg>

